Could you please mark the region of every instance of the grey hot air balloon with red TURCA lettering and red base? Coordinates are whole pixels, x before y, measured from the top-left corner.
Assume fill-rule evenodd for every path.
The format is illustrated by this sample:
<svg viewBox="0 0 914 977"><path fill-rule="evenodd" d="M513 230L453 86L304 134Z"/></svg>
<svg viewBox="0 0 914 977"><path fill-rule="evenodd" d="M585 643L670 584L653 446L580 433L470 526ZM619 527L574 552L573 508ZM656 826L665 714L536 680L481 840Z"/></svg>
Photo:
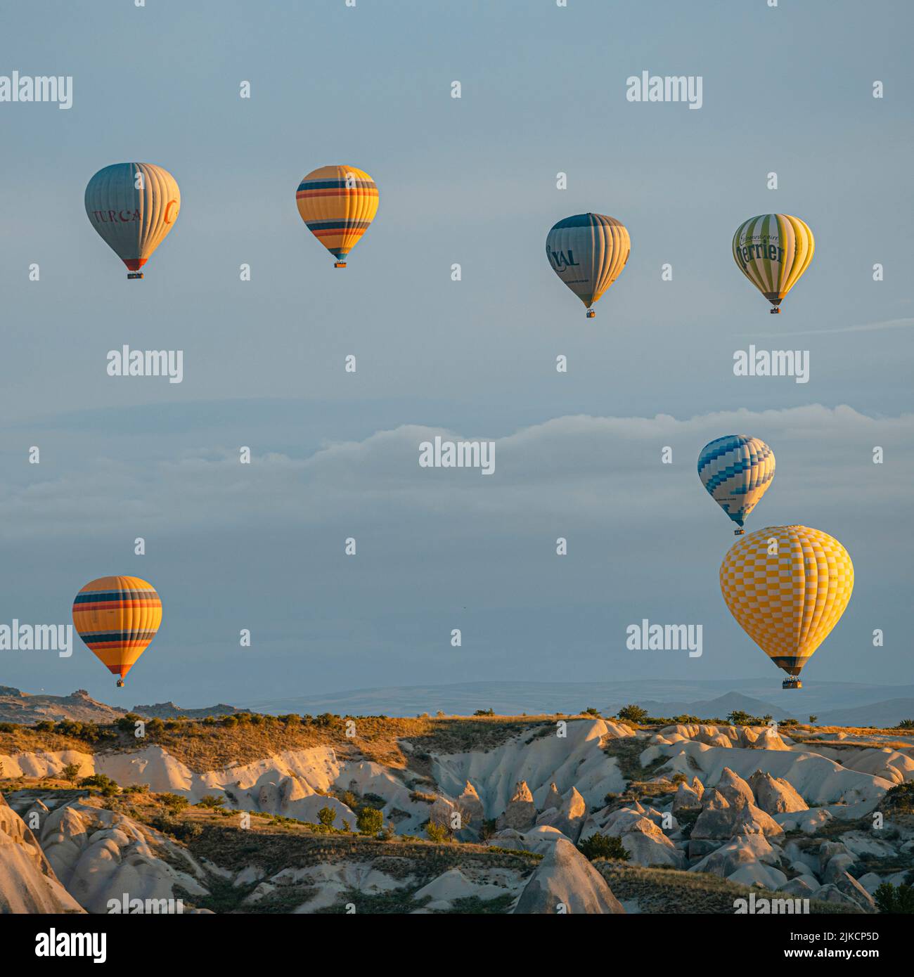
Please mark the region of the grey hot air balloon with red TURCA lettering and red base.
<svg viewBox="0 0 914 977"><path fill-rule="evenodd" d="M86 213L109 248L127 266L128 278L141 268L175 226L181 191L175 178L152 163L114 163L86 187Z"/></svg>

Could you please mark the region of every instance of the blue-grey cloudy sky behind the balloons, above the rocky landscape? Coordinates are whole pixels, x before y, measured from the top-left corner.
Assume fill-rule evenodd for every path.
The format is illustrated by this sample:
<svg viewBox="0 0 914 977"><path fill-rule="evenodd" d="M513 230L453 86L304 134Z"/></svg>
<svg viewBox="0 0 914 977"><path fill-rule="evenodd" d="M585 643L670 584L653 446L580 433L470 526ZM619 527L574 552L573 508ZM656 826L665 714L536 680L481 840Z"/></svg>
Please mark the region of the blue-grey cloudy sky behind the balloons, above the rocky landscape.
<svg viewBox="0 0 914 977"><path fill-rule="evenodd" d="M906 0L7 4L0 75L70 75L73 104L0 103L0 623L65 623L115 573L150 580L164 617L123 691L78 639L0 651L0 684L124 705L779 689L721 600L734 537L695 471L731 433L777 457L748 528L802 523L854 563L805 680L914 681L912 26ZM642 71L701 76L701 108L628 101ZM128 160L182 195L143 281L83 205ZM345 272L294 202L328 163L380 193ZM544 256L583 211L631 234L592 320ZM774 211L816 241L779 317L730 253ZM182 350L183 382L109 376L123 344ZM750 344L807 351L808 382L734 376ZM495 441L495 474L420 468L436 434ZM702 656L628 651L644 617L702 624Z"/></svg>

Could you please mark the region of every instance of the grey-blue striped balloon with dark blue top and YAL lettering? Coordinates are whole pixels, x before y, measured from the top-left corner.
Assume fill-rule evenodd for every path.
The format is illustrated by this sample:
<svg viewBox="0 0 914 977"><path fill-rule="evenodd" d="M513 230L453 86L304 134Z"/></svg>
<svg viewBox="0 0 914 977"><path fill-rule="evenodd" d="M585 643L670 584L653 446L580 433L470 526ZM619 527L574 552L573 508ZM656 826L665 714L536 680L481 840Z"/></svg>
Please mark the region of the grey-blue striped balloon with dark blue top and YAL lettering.
<svg viewBox="0 0 914 977"><path fill-rule="evenodd" d="M622 221L605 214L575 214L552 226L545 254L562 281L588 310L622 274L629 260L631 238Z"/></svg>

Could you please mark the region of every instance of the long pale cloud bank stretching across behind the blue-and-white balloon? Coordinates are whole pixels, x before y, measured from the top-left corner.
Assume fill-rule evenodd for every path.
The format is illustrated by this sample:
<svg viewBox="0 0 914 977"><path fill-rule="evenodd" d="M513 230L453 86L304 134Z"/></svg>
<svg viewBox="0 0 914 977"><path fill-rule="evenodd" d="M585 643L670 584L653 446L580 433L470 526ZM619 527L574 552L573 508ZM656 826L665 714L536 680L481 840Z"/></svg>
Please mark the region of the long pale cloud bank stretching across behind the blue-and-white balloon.
<svg viewBox="0 0 914 977"><path fill-rule="evenodd" d="M403 425L304 458L268 451L249 465L239 463L237 448L148 459L138 446L136 456L114 458L84 450L63 474L45 479L43 466L22 466L20 484L0 486L0 536L408 527L429 518L457 533L530 534L542 525L648 532L671 513L707 514L713 503L695 459L705 443L731 433L753 434L774 448L777 476L762 508L786 513L778 518L802 521L829 507L857 518L863 493L872 508L898 509L914 477L914 415L875 418L849 406L740 409L684 420L556 417L496 439L492 477L418 466L420 442L435 435L485 439L485 431ZM661 462L666 446L672 465ZM884 465L873 464L874 446L884 448Z"/></svg>

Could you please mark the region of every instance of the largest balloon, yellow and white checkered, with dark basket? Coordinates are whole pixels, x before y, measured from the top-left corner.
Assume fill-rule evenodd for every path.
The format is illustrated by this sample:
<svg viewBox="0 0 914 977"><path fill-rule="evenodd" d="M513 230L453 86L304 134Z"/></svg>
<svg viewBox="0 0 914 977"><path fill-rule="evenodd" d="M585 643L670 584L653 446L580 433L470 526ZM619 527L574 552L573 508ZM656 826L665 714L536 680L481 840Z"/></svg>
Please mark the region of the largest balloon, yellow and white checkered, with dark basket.
<svg viewBox="0 0 914 977"><path fill-rule="evenodd" d="M848 551L825 532L769 526L733 544L720 592L740 627L802 689L799 675L844 614L853 590Z"/></svg>

